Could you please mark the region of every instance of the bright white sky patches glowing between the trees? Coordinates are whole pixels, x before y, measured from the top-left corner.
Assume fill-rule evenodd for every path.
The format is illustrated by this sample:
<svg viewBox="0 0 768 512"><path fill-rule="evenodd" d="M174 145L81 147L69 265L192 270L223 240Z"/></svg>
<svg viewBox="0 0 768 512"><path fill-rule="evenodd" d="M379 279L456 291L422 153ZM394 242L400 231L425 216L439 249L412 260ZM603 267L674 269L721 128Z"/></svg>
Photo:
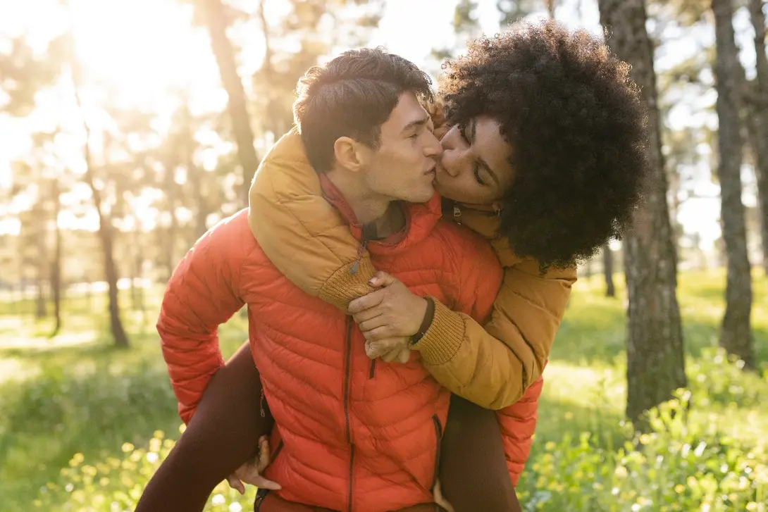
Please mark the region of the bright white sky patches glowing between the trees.
<svg viewBox="0 0 768 512"><path fill-rule="evenodd" d="M243 0L239 5L248 9L253 8L251 4L254 3ZM265 5L267 14L273 18L285 8L285 2L280 0L266 2ZM430 58L430 51L454 42L454 5L455 0L389 0L379 28L372 33L370 44L385 45L390 51L435 74L438 63ZM479 2L478 15L484 31L498 30L495 2ZM571 27L581 25L591 31L599 30L598 12L592 2L582 2L578 15L574 8L564 5L558 9L557 17ZM56 0L0 1L0 36L26 33L37 51L44 51L48 40L65 31L71 22L76 54L83 65L87 82L98 85L92 91L85 91L85 112L94 125L99 124L100 118L98 111L89 110L89 105L97 104L104 94L109 94L110 104L153 111L160 114L161 119L174 110L178 101L177 91L181 90L189 95L190 107L197 113L223 110L227 96L220 87L218 68L207 33L202 28L193 27L191 21L190 6L181 5L176 0L71 0L69 12ZM748 19L745 18L743 23L748 25ZM257 30L234 31L230 35L243 48L241 75L250 76L260 65L263 38ZM741 46L750 48L750 45ZM680 46L677 50L684 54L695 48ZM743 58L750 69L753 54L750 55L746 49ZM665 64L668 66L665 61L670 61L670 56L659 55L659 61L661 68ZM248 85L249 81L244 82ZM10 162L30 149L31 132L51 130L56 126L78 129L80 118L74 109L71 91L54 88L39 93L37 99L38 108L29 117L12 119L0 116L0 184L3 186L11 181ZM701 117L697 120L695 109L694 104L680 104L671 121L681 126L694 122L717 122L716 119L712 121ZM71 160L65 165L77 171L81 167L77 140L74 140L74 148L62 149L62 152L65 161ZM703 190L702 195L717 196L717 187L711 183L702 182L699 187ZM746 193L746 196L749 195ZM752 200L751 197L745 199L747 202ZM4 210L13 206L0 206L0 217ZM720 236L718 210L716 199L694 200L681 208L680 220L686 230L701 234L704 246L711 246L714 239ZM149 215L147 211L145 215ZM95 229L95 215L75 218L62 212L59 222L68 228ZM143 222L147 226L154 224L148 218ZM18 220L0 220L0 233L17 230Z"/></svg>

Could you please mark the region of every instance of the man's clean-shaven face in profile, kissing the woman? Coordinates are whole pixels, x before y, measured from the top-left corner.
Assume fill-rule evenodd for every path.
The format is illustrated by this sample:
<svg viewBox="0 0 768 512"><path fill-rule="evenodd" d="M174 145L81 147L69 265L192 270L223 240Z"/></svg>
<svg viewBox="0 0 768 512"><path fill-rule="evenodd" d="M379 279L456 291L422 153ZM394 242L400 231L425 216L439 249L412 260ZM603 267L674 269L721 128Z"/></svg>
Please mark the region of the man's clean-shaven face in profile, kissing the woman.
<svg viewBox="0 0 768 512"><path fill-rule="evenodd" d="M425 203L435 195L432 180L442 147L430 123L415 95L402 93L381 126L379 150L366 158L363 179L372 193L409 203Z"/></svg>

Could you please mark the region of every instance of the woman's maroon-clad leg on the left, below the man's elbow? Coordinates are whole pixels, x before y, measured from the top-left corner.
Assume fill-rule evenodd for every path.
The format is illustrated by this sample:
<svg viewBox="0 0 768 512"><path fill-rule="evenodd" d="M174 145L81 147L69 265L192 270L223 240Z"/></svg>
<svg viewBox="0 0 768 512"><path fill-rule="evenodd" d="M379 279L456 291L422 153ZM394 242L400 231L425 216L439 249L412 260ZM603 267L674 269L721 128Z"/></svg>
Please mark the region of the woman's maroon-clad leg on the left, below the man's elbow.
<svg viewBox="0 0 768 512"><path fill-rule="evenodd" d="M273 420L262 418L261 381L246 343L205 390L187 430L157 469L137 512L203 510L214 487L258 452Z"/></svg>

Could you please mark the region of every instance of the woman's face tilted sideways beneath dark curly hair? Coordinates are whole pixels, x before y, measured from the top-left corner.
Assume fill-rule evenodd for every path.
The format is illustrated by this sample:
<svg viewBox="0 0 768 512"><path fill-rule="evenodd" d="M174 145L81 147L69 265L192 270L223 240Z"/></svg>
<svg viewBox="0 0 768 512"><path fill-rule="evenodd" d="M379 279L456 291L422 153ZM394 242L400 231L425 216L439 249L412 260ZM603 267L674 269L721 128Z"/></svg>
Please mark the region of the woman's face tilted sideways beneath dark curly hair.
<svg viewBox="0 0 768 512"><path fill-rule="evenodd" d="M474 117L465 127L452 127L440 141L442 157L435 189L459 203L493 205L509 190L512 148L491 117Z"/></svg>

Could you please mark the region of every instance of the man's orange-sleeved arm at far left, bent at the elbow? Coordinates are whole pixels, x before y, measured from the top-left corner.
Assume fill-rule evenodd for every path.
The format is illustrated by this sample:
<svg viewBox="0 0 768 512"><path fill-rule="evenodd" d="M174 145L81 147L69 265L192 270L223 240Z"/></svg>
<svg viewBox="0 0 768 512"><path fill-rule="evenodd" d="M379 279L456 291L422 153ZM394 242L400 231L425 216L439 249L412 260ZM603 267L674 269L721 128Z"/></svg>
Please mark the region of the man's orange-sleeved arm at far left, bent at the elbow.
<svg viewBox="0 0 768 512"><path fill-rule="evenodd" d="M243 306L239 289L244 235L253 239L245 210L211 228L177 266L163 297L157 332L184 422L224 364L219 324Z"/></svg>

